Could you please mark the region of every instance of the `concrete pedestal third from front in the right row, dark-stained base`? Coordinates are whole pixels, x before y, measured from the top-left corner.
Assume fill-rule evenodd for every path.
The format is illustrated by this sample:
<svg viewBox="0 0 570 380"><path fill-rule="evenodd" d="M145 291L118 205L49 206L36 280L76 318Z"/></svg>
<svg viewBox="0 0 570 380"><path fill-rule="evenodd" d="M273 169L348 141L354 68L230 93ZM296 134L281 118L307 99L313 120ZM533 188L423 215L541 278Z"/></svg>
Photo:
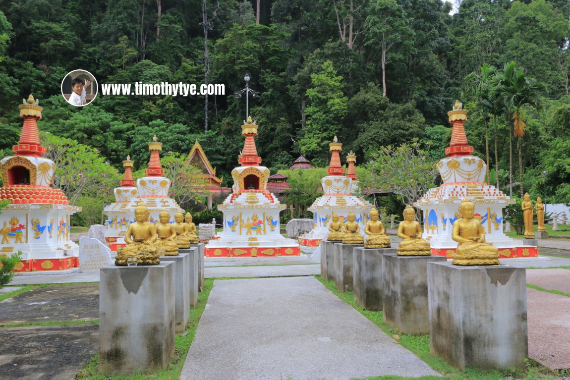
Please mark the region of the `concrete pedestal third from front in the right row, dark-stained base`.
<svg viewBox="0 0 570 380"><path fill-rule="evenodd" d="M361 308L382 310L382 255L396 248L355 248L353 262L354 298Z"/></svg>

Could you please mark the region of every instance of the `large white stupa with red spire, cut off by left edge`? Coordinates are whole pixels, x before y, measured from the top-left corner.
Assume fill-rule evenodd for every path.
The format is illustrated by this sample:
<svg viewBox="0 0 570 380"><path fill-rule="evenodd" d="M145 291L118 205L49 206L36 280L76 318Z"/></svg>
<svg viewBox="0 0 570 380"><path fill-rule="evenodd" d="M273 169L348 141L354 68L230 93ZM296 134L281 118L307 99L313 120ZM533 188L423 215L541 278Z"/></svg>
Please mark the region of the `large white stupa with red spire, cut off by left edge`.
<svg viewBox="0 0 570 380"><path fill-rule="evenodd" d="M14 156L1 162L0 201L10 201L0 214L0 255L22 252L14 272L64 271L79 266L79 248L70 240L70 215L81 207L51 187L56 166L44 158L38 124L43 108L30 95L19 105L24 119Z"/></svg>

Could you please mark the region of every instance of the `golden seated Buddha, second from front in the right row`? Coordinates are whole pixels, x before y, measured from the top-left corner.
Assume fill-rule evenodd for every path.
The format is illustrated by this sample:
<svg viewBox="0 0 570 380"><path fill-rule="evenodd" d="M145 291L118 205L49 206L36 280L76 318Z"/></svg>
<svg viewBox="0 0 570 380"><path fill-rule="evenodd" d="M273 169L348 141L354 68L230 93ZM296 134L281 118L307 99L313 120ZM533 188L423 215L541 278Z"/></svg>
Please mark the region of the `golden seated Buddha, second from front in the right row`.
<svg viewBox="0 0 570 380"><path fill-rule="evenodd" d="M429 256L431 248L429 242L422 239L422 227L416 220L416 211L412 205L404 209L404 220L398 224L398 237L402 238L396 254L398 256Z"/></svg>

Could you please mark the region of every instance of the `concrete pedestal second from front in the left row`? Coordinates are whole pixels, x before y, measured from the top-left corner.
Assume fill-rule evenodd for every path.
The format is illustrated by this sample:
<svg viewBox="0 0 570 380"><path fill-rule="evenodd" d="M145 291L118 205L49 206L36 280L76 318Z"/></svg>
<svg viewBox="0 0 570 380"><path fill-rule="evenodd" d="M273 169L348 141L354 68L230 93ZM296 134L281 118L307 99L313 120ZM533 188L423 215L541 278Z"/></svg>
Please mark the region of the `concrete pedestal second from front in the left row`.
<svg viewBox="0 0 570 380"><path fill-rule="evenodd" d="M190 254L178 254L178 256L162 256L160 261L174 261L175 307L174 328L177 333L186 330L186 324L190 319Z"/></svg>

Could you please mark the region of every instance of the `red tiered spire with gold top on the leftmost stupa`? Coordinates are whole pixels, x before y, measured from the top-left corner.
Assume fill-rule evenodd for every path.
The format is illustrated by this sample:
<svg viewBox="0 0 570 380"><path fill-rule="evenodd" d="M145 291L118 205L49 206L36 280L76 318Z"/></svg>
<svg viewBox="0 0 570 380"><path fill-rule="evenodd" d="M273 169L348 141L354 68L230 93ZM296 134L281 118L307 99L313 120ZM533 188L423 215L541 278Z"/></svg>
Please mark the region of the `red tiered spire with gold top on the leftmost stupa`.
<svg viewBox="0 0 570 380"><path fill-rule="evenodd" d="M27 103L27 104L26 104ZM24 119L22 133L18 145L14 145L12 149L16 156L35 156L41 157L46 153L46 148L39 142L38 124L36 121L42 119L42 107L39 107L38 101L33 96L29 96L25 104L20 104L20 117Z"/></svg>

